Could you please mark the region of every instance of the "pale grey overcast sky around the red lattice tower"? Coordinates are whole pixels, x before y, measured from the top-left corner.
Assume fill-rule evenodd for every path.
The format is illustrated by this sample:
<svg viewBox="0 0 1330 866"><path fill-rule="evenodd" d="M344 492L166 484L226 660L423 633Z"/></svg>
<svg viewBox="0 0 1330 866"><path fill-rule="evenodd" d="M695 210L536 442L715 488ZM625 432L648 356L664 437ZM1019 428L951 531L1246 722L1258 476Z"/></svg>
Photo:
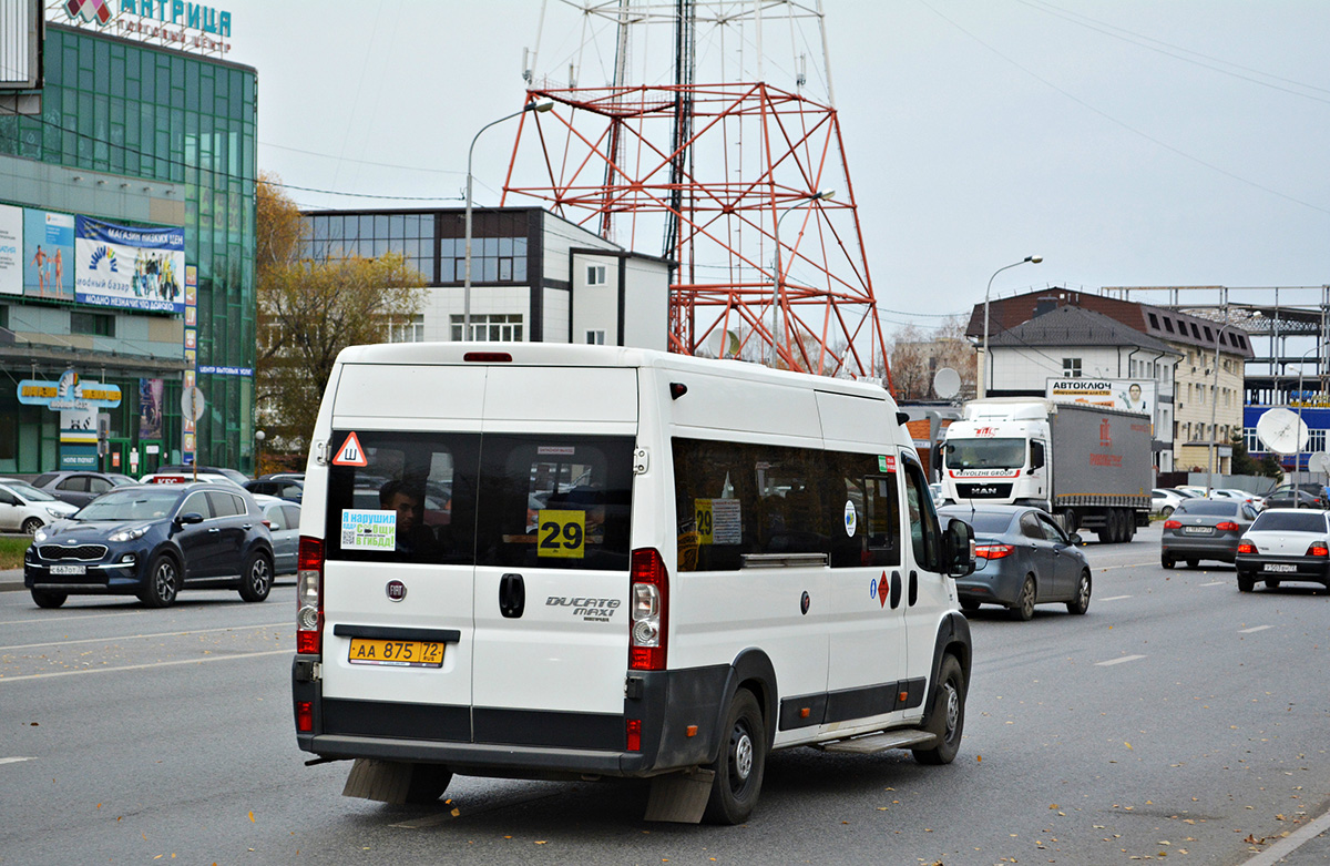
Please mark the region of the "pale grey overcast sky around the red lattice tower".
<svg viewBox="0 0 1330 866"><path fill-rule="evenodd" d="M447 200L462 196L471 137L523 104L541 3L222 8L229 59L258 69L259 169L311 190L438 197L291 190L305 206L394 208L460 204ZM825 11L888 335L968 310L996 269L1029 254L1044 263L1004 271L995 295L1330 282L1330 3L825 0ZM565 68L579 28L549 0L540 67ZM791 85L790 41L763 52L778 86ZM580 84L605 84L612 56L612 41L584 53ZM668 67L656 72L668 80ZM508 125L481 140L477 205L497 204L515 136Z"/></svg>

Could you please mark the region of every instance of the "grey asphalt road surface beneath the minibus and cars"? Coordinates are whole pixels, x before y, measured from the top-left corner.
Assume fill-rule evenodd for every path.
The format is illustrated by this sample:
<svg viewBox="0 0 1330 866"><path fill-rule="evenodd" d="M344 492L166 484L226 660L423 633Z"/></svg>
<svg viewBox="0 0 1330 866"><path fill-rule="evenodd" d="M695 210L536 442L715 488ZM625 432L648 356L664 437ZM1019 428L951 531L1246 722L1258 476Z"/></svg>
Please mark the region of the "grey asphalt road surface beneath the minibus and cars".
<svg viewBox="0 0 1330 866"><path fill-rule="evenodd" d="M1256 865L1317 831L1330 595L1164 571L1157 529L1085 549L1087 616L971 615L955 764L777 753L741 827L646 823L632 782L340 797L348 765L295 748L290 581L263 604L186 592L166 611L0 593L0 863ZM1322 835L1266 862L1327 853Z"/></svg>

